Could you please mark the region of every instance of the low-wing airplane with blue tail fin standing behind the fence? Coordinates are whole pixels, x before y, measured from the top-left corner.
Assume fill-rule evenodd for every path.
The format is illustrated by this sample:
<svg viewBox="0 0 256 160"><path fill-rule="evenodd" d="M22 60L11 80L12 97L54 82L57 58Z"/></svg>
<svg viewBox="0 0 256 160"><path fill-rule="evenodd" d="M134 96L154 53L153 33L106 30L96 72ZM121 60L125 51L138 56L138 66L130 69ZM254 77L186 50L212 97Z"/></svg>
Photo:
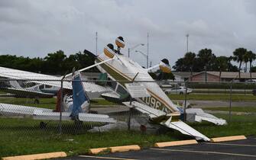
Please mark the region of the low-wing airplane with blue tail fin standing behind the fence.
<svg viewBox="0 0 256 160"><path fill-rule="evenodd" d="M3 116L33 117L35 120L75 120L76 122L116 123L116 120L105 114L89 114L89 98L81 81L79 72L74 72L72 79L72 94L63 98L62 112L40 107L28 107L15 104L0 103L0 114ZM60 105L60 103L58 104ZM46 124L40 123L41 127Z"/></svg>

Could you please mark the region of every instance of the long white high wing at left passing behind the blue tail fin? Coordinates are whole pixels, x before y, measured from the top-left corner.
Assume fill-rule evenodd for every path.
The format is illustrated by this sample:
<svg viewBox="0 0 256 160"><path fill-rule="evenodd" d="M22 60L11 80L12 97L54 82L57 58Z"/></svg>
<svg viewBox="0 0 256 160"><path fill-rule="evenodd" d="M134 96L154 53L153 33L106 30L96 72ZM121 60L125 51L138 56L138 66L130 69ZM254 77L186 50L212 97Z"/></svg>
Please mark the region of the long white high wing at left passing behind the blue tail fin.
<svg viewBox="0 0 256 160"><path fill-rule="evenodd" d="M9 69L5 67L0 67L0 77L13 78L15 80L26 80L28 82L51 85L59 88L61 85L60 80L62 78L53 75L44 75L40 73L27 72L18 69ZM104 88L100 85L89 82L83 82L83 86L90 99L99 97L100 94L109 91L108 88ZM71 82L63 82L63 88L72 89Z"/></svg>

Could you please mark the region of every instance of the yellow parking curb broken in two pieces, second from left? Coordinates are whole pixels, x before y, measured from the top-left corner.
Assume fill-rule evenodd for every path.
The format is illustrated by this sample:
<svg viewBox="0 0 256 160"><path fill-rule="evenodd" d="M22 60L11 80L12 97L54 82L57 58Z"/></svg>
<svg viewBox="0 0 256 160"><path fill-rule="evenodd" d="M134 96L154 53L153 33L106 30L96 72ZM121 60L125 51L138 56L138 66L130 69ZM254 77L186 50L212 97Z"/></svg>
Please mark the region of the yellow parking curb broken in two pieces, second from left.
<svg viewBox="0 0 256 160"><path fill-rule="evenodd" d="M104 152L105 150L110 150L110 152L128 152L128 151L138 151L141 149L138 145L130 145L130 146L114 146L114 147L104 147L104 148L96 148L96 149L89 149L89 153L96 155L100 152Z"/></svg>

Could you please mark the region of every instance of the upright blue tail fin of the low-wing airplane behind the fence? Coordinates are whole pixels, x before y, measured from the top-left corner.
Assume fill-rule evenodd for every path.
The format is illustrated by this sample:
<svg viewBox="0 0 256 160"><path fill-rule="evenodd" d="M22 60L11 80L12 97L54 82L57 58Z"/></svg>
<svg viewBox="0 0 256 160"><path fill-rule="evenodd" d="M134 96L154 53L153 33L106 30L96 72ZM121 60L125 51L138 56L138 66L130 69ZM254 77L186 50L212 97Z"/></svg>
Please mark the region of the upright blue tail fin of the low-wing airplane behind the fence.
<svg viewBox="0 0 256 160"><path fill-rule="evenodd" d="M81 75L75 72L72 81L73 87L73 110L71 117L77 117L81 112L89 112L89 98L83 88Z"/></svg>

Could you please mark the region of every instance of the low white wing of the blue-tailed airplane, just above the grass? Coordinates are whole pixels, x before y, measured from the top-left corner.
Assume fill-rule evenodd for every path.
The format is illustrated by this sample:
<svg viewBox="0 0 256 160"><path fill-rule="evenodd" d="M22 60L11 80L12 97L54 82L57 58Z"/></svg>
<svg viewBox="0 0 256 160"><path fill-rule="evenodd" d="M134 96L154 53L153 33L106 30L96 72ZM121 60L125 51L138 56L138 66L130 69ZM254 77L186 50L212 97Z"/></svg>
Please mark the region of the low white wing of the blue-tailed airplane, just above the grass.
<svg viewBox="0 0 256 160"><path fill-rule="evenodd" d="M72 120L70 112L62 113L62 120ZM51 109L40 107L28 107L15 104L0 103L0 115L3 116L20 116L33 117L34 120L60 120L60 112L53 112ZM78 119L83 122L101 122L101 123L116 123L116 120L105 114L86 114L79 113Z"/></svg>

